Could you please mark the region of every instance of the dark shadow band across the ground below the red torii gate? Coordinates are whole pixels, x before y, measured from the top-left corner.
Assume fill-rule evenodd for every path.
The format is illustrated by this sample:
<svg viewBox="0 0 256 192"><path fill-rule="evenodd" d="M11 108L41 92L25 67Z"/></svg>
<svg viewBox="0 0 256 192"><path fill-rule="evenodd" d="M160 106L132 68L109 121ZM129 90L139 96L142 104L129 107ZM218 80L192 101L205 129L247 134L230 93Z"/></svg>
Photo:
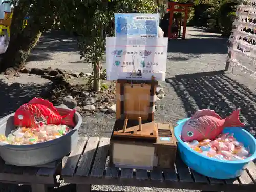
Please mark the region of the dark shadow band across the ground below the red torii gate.
<svg viewBox="0 0 256 192"><path fill-rule="evenodd" d="M196 36L196 35L195 35ZM202 35L199 35L202 36ZM208 38L172 39L168 43L168 53L184 54L227 54L227 39L207 35Z"/></svg>

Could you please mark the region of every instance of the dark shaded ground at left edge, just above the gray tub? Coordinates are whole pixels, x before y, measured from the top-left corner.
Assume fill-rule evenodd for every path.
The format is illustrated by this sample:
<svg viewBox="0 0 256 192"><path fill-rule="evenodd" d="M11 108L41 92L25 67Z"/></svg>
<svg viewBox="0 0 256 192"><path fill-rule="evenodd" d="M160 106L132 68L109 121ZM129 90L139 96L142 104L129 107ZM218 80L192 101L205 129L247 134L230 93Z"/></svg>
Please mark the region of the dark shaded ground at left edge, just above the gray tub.
<svg viewBox="0 0 256 192"><path fill-rule="evenodd" d="M15 112L20 105L30 101L33 97L45 97L52 88L52 83L45 84L7 84L0 79L0 118Z"/></svg>

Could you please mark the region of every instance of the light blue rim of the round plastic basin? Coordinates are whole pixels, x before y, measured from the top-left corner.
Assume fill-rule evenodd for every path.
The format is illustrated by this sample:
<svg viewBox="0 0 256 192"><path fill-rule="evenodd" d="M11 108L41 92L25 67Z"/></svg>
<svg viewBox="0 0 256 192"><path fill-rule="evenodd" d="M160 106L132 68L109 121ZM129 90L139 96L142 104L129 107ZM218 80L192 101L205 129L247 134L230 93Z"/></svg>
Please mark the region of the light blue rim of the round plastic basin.
<svg viewBox="0 0 256 192"><path fill-rule="evenodd" d="M177 122L178 125L180 125L181 123L185 123L186 121L188 121L190 118L185 118L185 119L182 119L180 120L179 122ZM176 126L177 127L177 126ZM180 138L179 135L177 135L177 132L175 131L176 127L174 128L174 135L176 137L176 139L178 140L178 143L180 143L183 147L187 148L190 152L196 154L196 155L199 155L200 157L204 158L204 159L207 159L207 160L210 160L210 161L216 161L216 162L220 162L220 163L228 163L228 164L242 164L242 163L249 163L250 161L253 161L254 159L256 159L256 150L254 151L254 153L246 158L246 159L243 159L243 160L235 160L235 161L224 161L224 160L220 160L220 159L214 159L214 158L211 158L211 157L207 157L205 155L202 155L194 150L191 150L190 147L188 147ZM225 127L225 128L231 128L231 127ZM224 128L224 129L225 129ZM243 132L245 132L247 135L249 135L249 137L254 141L254 144L255 144L255 148L256 148L256 139L249 133L247 132L245 129L243 129L242 127L238 127L240 128Z"/></svg>

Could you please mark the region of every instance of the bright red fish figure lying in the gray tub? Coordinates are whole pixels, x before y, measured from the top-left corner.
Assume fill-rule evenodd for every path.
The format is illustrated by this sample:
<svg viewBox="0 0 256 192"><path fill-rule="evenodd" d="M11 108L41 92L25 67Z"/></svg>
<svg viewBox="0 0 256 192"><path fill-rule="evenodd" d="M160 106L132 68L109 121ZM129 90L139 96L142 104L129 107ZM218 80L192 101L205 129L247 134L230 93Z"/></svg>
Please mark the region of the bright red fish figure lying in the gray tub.
<svg viewBox="0 0 256 192"><path fill-rule="evenodd" d="M73 121L75 110L68 115L61 116L48 100L33 98L27 104L20 106L14 114L14 125L19 127L37 127L35 119L44 118L47 124L64 124L75 126Z"/></svg>

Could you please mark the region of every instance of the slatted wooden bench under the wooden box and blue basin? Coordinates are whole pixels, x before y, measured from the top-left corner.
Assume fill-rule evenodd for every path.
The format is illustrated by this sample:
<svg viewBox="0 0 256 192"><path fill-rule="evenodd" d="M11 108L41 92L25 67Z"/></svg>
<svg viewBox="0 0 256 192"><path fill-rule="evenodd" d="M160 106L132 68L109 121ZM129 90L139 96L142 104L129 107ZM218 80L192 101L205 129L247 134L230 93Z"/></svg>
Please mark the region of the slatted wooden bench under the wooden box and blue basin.
<svg viewBox="0 0 256 192"><path fill-rule="evenodd" d="M175 168L168 170L118 169L109 165L110 138L80 137L71 152L61 176L76 184L77 192L91 191L91 185L123 185L204 191L255 191L256 166L250 163L242 176L218 180L189 169L177 156ZM124 152L125 153L125 152Z"/></svg>

